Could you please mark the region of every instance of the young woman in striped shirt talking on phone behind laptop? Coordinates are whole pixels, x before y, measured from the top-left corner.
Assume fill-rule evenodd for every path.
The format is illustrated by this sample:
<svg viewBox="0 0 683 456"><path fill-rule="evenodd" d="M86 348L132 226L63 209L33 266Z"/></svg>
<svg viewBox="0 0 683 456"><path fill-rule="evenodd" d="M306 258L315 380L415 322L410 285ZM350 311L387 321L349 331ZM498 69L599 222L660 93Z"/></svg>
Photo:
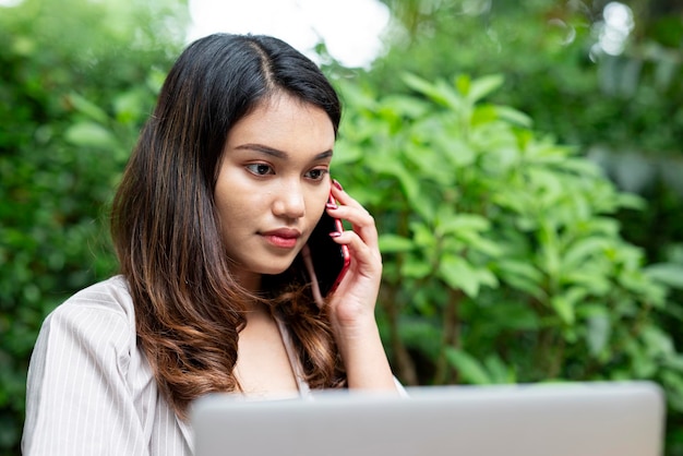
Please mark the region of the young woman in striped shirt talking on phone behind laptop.
<svg viewBox="0 0 683 456"><path fill-rule="evenodd" d="M339 118L328 81L278 39L185 49L113 202L121 275L41 328L25 454L187 455L206 393L396 388L374 319L374 221L329 178ZM352 260L316 303L301 256L324 211L351 224L331 236Z"/></svg>

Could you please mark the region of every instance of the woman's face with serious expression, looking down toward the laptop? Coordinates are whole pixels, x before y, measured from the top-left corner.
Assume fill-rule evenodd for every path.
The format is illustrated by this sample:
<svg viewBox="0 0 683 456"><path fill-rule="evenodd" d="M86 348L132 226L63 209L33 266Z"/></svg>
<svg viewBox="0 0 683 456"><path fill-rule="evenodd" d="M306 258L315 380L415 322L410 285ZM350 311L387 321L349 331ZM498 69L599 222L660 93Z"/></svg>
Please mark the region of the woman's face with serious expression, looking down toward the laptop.
<svg viewBox="0 0 683 456"><path fill-rule="evenodd" d="M325 209L335 134L321 108L276 94L228 132L216 206L245 287L286 271Z"/></svg>

